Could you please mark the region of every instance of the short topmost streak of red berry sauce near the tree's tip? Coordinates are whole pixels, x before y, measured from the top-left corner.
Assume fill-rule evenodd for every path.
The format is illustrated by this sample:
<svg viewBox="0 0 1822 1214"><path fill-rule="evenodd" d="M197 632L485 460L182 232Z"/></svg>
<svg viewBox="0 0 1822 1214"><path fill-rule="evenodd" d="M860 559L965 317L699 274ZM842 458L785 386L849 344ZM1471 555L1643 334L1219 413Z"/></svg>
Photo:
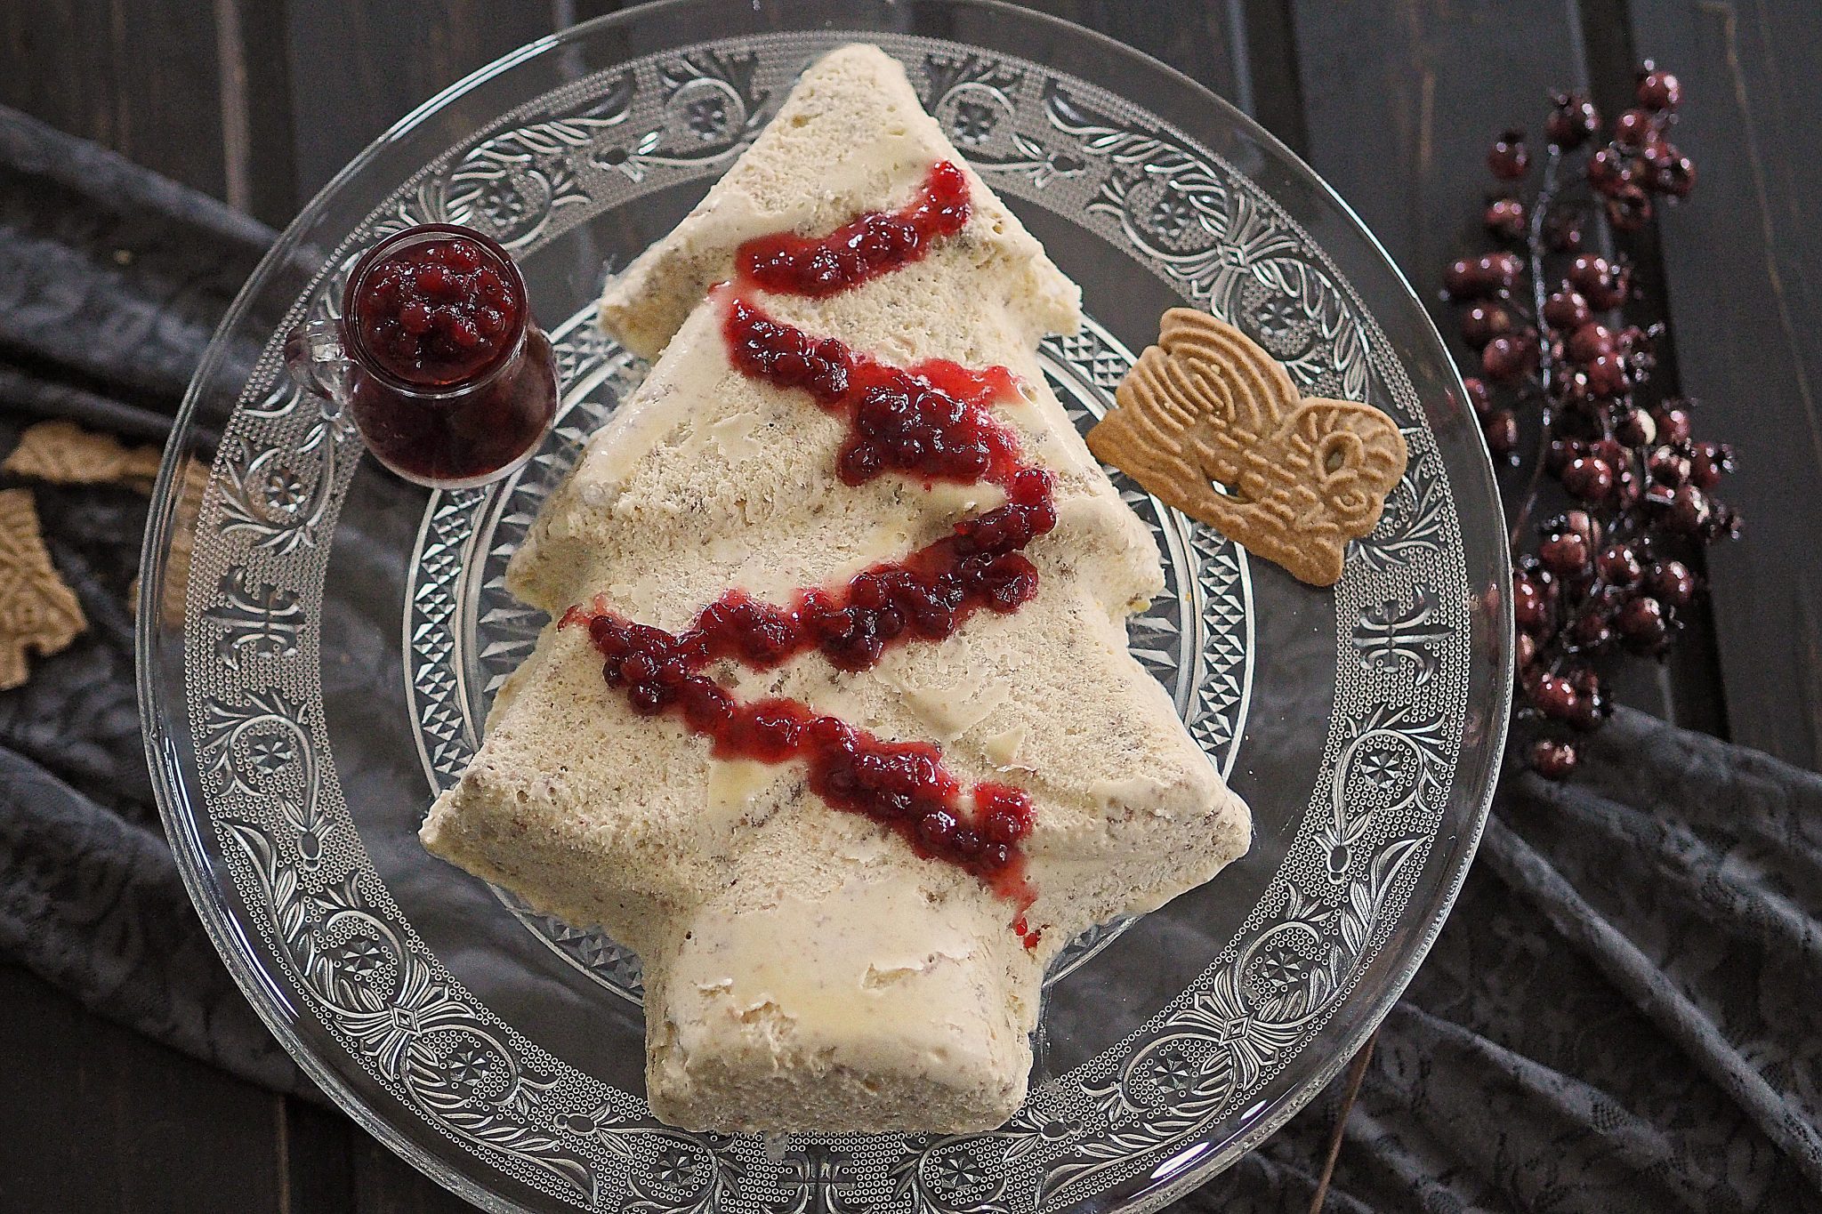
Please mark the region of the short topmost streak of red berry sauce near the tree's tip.
<svg viewBox="0 0 1822 1214"><path fill-rule="evenodd" d="M834 295L922 258L940 237L967 226L967 177L940 160L916 198L898 211L869 211L827 237L789 231L740 246L740 277L776 295Z"/></svg>

